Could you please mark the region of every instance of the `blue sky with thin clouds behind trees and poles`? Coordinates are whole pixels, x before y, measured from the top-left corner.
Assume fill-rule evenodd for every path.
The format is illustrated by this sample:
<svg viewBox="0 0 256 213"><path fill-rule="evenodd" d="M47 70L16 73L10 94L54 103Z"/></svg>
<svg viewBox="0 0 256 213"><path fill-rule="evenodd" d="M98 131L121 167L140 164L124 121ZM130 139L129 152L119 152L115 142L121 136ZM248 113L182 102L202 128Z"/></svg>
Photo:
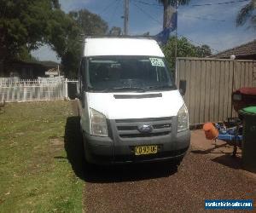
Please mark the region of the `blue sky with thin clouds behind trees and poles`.
<svg viewBox="0 0 256 213"><path fill-rule="evenodd" d="M108 22L109 29L123 29L124 0L59 0L66 13L88 9ZM233 3L230 3L233 2ZM248 25L236 26L236 14L249 0L190 0L177 9L177 35L187 37L195 45L207 44L212 53L236 47L256 38L256 31ZM220 3L220 4L219 4ZM205 5L207 4L207 5ZM211 4L211 5L209 5ZM149 32L155 35L162 29L163 7L158 0L130 0L130 35ZM38 60L60 61L49 46L33 51Z"/></svg>

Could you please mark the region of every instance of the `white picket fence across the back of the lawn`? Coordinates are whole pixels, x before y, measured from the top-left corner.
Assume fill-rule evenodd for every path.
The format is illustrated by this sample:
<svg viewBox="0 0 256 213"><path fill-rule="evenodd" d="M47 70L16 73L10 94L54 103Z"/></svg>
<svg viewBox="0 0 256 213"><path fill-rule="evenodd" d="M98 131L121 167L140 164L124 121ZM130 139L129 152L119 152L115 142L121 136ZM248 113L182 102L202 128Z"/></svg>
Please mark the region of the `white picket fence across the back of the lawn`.
<svg viewBox="0 0 256 213"><path fill-rule="evenodd" d="M14 79L0 78L0 102L52 101L68 99L67 78Z"/></svg>

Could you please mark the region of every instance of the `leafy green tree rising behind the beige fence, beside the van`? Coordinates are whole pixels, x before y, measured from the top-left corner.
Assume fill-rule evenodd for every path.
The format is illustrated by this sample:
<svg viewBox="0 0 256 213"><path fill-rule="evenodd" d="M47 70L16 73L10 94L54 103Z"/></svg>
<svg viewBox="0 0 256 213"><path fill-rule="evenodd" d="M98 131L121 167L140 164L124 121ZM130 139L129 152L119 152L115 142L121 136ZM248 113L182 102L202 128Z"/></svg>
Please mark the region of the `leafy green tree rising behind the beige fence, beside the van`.
<svg viewBox="0 0 256 213"><path fill-rule="evenodd" d="M175 69L175 48L176 37L171 37L168 43L163 46L163 52L172 71ZM177 57L207 57L209 55L212 55L212 53L208 45L195 46L189 43L186 37L177 39Z"/></svg>

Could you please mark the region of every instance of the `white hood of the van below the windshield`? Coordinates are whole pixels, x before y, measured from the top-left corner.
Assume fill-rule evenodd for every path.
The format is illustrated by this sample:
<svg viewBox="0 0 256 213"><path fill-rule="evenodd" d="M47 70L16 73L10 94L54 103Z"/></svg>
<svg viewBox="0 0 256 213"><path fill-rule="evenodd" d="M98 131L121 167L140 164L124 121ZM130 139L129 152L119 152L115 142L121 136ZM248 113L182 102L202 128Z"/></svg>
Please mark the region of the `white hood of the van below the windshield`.
<svg viewBox="0 0 256 213"><path fill-rule="evenodd" d="M183 98L177 90L150 93L118 93L118 95L162 94L157 98L115 99L117 93L87 93L90 108L108 119L162 118L177 116Z"/></svg>

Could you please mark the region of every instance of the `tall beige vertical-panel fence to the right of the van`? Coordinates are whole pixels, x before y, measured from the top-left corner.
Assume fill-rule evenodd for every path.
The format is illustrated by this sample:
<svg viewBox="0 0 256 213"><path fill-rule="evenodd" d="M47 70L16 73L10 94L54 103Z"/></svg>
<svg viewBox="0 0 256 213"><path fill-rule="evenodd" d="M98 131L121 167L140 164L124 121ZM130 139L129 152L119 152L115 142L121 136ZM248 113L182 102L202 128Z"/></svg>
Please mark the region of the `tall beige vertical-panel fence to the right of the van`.
<svg viewBox="0 0 256 213"><path fill-rule="evenodd" d="M177 87L182 79L187 81L184 101L189 123L224 121L236 116L231 106L232 91L256 86L256 61L177 58Z"/></svg>

